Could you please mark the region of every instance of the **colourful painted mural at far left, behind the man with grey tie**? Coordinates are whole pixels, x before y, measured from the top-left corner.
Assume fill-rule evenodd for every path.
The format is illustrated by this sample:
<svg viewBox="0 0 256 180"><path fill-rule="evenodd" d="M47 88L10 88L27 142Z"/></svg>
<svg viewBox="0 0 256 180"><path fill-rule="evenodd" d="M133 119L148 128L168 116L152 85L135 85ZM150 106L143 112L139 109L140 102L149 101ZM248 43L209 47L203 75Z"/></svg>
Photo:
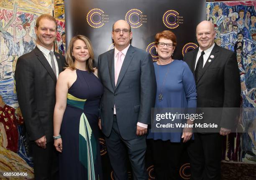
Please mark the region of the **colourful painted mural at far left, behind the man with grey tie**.
<svg viewBox="0 0 256 180"><path fill-rule="evenodd" d="M33 179L33 163L14 72L18 57L36 46L34 27L42 13L52 13L51 0L0 1L0 172L26 172L26 179ZM0 173L0 179L8 177Z"/></svg>

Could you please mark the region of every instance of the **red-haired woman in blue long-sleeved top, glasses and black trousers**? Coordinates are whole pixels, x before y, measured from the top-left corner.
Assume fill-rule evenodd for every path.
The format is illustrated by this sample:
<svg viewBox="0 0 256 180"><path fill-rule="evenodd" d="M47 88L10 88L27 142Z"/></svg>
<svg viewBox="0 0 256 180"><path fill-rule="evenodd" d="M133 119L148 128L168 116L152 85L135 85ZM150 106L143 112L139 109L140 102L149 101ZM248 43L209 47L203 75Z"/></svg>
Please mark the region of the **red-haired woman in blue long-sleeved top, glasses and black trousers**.
<svg viewBox="0 0 256 180"><path fill-rule="evenodd" d="M156 74L157 108L196 107L197 93L194 76L186 62L172 58L176 35L170 30L159 32L155 36L155 46L159 60L154 62ZM187 123L192 123L188 120ZM151 133L147 136L152 150L154 172L157 180L178 179L180 158L185 142L192 133L183 129L183 133ZM175 177L176 176L176 177Z"/></svg>

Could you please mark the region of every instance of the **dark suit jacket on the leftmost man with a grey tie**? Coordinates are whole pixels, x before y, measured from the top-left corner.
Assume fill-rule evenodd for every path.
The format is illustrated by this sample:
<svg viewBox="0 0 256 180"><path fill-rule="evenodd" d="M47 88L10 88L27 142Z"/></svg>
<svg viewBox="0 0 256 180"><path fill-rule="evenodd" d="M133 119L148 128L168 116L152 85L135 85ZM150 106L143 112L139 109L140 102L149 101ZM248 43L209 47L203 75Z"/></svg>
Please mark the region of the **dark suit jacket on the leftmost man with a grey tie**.
<svg viewBox="0 0 256 180"><path fill-rule="evenodd" d="M65 57L56 52L54 55L60 73ZM37 140L46 135L47 142L53 141L56 76L38 47L18 58L15 82L29 139Z"/></svg>

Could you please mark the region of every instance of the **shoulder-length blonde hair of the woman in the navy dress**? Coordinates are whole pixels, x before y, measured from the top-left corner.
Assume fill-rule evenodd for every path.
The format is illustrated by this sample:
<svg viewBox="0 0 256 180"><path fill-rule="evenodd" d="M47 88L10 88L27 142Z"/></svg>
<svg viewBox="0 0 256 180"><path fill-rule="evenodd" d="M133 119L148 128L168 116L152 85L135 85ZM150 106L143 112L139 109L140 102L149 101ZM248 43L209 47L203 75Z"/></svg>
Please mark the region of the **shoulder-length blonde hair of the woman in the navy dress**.
<svg viewBox="0 0 256 180"><path fill-rule="evenodd" d="M89 51L89 59L85 61L86 69L88 72L94 72L95 70L93 69L93 60L94 60L94 53L93 53L93 48L92 48L92 43L91 41L85 37L84 35L77 35L72 37L72 39L69 42L69 47L67 49L66 53L66 64L67 67L69 67L72 70L75 70L76 67L74 66L74 57L72 56L72 50L74 47L74 42L76 40L82 40L86 44L88 51Z"/></svg>

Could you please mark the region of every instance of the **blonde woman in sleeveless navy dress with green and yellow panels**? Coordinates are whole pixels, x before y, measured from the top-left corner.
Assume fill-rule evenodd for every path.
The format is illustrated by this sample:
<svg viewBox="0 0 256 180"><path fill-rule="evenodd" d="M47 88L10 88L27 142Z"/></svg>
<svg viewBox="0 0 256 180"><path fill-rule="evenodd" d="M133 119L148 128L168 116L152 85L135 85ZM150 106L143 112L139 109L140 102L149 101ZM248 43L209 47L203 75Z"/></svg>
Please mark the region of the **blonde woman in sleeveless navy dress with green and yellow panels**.
<svg viewBox="0 0 256 180"><path fill-rule="evenodd" d="M99 103L103 87L92 67L90 40L70 40L66 61L56 84L54 146L59 154L61 180L102 180L98 142Z"/></svg>

